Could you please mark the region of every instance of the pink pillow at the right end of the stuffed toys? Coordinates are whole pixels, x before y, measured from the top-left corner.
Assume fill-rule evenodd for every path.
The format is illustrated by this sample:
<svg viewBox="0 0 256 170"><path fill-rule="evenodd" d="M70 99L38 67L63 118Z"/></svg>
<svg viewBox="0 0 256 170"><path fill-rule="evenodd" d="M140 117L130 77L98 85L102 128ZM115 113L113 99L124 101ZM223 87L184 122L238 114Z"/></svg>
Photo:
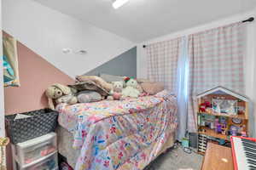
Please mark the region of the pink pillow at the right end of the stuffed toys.
<svg viewBox="0 0 256 170"><path fill-rule="evenodd" d="M141 86L143 90L150 95L157 94L165 89L164 84L161 82L143 82Z"/></svg>

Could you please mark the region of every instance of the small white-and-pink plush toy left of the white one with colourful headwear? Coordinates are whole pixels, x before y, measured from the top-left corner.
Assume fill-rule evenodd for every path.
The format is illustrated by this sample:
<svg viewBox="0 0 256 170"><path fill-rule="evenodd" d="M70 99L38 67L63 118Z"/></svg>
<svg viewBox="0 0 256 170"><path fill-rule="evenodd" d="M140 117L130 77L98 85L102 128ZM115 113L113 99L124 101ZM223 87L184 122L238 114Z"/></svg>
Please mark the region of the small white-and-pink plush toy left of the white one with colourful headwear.
<svg viewBox="0 0 256 170"><path fill-rule="evenodd" d="M112 82L113 83L113 89L110 90L108 100L113 100L113 99L120 99L122 96L122 91L124 88L124 82L119 81L119 82Z"/></svg>

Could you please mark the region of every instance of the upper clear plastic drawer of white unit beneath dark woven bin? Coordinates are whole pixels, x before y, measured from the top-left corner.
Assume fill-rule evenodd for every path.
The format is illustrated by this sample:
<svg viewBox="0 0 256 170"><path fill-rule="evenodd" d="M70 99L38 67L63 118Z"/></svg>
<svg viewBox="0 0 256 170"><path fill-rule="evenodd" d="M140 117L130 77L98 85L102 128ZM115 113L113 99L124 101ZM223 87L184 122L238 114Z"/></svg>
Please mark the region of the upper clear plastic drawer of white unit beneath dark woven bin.
<svg viewBox="0 0 256 170"><path fill-rule="evenodd" d="M48 133L36 139L13 145L15 160L21 167L32 164L42 157L49 156L57 150L56 134Z"/></svg>

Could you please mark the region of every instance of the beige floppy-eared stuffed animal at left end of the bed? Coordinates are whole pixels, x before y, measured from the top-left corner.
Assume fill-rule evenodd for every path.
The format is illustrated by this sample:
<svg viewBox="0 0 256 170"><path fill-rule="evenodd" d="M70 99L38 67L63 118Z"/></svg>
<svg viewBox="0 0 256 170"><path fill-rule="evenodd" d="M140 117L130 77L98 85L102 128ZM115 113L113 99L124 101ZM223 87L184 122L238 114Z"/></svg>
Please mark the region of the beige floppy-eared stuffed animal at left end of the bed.
<svg viewBox="0 0 256 170"><path fill-rule="evenodd" d="M57 100L56 101L57 103L67 102L68 104L75 104L74 102L77 101L77 99L75 99L76 97L73 95L75 93L76 93L76 89L69 88L59 83L55 83L49 86L49 88L47 88L45 91L45 94L48 97L48 105L51 110L55 110L55 105L53 102L54 99ZM65 96L65 97L60 99L62 96Z"/></svg>

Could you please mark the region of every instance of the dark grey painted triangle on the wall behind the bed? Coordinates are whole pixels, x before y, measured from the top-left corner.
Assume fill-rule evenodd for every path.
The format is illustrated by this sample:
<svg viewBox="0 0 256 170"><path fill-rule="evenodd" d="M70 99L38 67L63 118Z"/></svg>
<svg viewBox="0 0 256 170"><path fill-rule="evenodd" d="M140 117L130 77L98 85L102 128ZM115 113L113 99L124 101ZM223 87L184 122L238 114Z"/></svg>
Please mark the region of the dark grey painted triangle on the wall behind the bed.
<svg viewBox="0 0 256 170"><path fill-rule="evenodd" d="M124 54L109 60L107 63L96 67L96 69L85 73L84 75L99 75L100 73L137 77L137 48L131 48Z"/></svg>

